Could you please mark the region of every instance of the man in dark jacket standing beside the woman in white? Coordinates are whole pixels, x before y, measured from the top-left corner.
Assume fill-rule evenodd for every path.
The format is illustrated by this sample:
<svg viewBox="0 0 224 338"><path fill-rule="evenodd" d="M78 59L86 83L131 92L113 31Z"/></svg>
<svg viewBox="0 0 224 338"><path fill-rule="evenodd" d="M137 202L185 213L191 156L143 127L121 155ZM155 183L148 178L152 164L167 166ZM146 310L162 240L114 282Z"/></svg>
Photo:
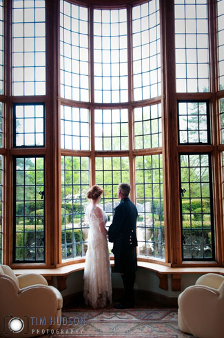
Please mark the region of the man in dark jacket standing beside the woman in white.
<svg viewBox="0 0 224 338"><path fill-rule="evenodd" d="M128 195L131 186L128 183L120 183L118 197L121 199L119 206L115 208L114 218L109 227L109 241L114 243L114 272L119 272L123 279L124 297L116 308L134 307L134 280L137 270L136 246L136 220L138 212Z"/></svg>

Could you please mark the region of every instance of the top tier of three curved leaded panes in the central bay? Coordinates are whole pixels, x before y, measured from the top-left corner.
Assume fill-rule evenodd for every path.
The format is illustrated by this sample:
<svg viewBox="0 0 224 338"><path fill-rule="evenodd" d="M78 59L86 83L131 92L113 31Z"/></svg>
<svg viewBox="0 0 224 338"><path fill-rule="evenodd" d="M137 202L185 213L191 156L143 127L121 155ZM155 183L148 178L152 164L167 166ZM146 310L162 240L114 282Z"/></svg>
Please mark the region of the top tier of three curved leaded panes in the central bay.
<svg viewBox="0 0 224 338"><path fill-rule="evenodd" d="M92 26L90 12L61 0L61 97L128 103L161 95L159 0L94 9Z"/></svg>

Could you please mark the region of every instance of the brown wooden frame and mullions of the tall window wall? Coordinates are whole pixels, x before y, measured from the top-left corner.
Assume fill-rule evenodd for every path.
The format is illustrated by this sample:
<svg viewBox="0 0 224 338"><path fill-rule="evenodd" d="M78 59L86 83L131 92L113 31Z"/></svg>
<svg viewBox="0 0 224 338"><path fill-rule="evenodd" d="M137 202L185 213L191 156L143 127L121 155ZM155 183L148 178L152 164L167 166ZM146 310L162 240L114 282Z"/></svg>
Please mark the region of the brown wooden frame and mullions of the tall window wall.
<svg viewBox="0 0 224 338"><path fill-rule="evenodd" d="M75 0L68 0L75 3ZM94 8L127 8L128 10L128 35L130 35L131 8L132 4L143 3L144 1L122 2L88 0L83 6L90 8L90 50L93 48L93 9ZM95 3L95 5L94 5ZM82 4L79 1L79 4ZM62 264L61 261L61 155L87 156L90 158L90 185L95 183L95 157L127 156L130 158L130 183L135 186L134 158L136 155L163 154L163 186L164 186L164 217L165 217L165 261L145 257L142 261L164 264L172 267L187 266L223 266L224 265L224 236L223 236L223 189L221 172L221 152L224 145L220 142L219 122L219 99L224 97L224 90L218 90L218 56L217 56L217 27L216 1L208 0L208 26L209 26L209 53L210 53L210 92L205 93L176 93L176 65L175 65L175 41L174 41L174 0L160 0L161 18L161 96L141 102L133 101L132 85L132 42L128 39L128 103L103 104L94 103L94 79L90 79L90 103L74 102L68 99L61 99L59 95L59 0L45 1L46 17L46 95L38 97L12 97L12 0L4 3L4 70L5 70L5 91L0 95L0 101L4 103L4 148L0 154L4 157L4 182L3 195L5 197L4 221L3 221L3 264L12 268L57 268L62 265L74 264L85 259L74 259ZM90 52L93 55L93 52ZM93 73L93 59L90 59L90 72ZM210 123L211 123L211 145L178 145L178 100L209 100L210 101ZM13 103L44 103L45 104L45 147L17 149L12 147L12 107ZM133 108L147 106L154 103L162 104L162 134L163 143L161 148L134 150L134 120ZM77 106L90 110L90 143L91 150L61 150L60 144L60 105ZM128 108L129 121L129 150L122 151L97 151L94 148L94 108ZM212 154L212 180L214 191L214 229L215 229L215 250L216 261L182 261L181 258L181 215L179 205L179 153L181 152L210 152ZM45 156L45 264L12 264L12 157L19 155L44 155ZM135 192L132 189L131 199L135 201ZM174 203L175 201L175 203Z"/></svg>

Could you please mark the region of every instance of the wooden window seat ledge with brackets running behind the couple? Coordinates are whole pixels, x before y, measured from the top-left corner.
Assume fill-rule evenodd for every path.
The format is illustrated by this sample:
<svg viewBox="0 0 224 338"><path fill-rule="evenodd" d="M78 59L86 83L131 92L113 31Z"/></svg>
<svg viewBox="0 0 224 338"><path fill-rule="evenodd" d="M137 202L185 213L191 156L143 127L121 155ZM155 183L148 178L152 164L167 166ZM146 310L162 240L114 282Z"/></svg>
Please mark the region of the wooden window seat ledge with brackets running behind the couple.
<svg viewBox="0 0 224 338"><path fill-rule="evenodd" d="M114 261L110 261L111 266L114 266ZM215 267L181 267L181 268L171 268L170 266L164 266L162 264L151 263L147 261L138 261L139 268L145 268L156 272L156 276L159 277L160 283L159 287L163 290L168 289L168 275L172 275L172 290L180 291L181 290L181 275L192 275L198 274L203 275L205 273L219 273L224 275L224 268L215 266ZM52 277L57 277L58 289L65 290L66 279L68 275L72 272L83 270L85 267L85 262L70 264L67 266L61 266L59 268L37 268L37 269L14 269L14 273L19 276L23 273L39 273L48 280L48 284L52 284Z"/></svg>

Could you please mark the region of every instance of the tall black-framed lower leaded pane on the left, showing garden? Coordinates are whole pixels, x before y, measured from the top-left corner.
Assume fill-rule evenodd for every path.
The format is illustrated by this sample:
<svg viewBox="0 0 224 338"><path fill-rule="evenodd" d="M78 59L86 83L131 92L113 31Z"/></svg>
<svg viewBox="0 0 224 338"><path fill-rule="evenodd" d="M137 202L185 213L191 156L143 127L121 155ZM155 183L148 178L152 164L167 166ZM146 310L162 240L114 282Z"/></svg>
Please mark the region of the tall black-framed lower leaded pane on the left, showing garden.
<svg viewBox="0 0 224 338"><path fill-rule="evenodd" d="M14 158L13 261L45 261L44 158Z"/></svg>

